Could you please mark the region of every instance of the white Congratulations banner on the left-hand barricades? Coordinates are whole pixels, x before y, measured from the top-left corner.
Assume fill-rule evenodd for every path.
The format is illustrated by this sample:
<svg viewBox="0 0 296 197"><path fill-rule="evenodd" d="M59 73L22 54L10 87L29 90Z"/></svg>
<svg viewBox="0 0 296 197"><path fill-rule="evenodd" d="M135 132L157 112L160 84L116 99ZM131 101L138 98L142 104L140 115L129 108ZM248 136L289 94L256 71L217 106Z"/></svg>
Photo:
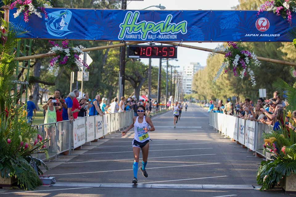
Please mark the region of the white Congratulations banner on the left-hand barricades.
<svg viewBox="0 0 296 197"><path fill-rule="evenodd" d="M85 119L76 119L73 122L73 147L80 147L85 143Z"/></svg>

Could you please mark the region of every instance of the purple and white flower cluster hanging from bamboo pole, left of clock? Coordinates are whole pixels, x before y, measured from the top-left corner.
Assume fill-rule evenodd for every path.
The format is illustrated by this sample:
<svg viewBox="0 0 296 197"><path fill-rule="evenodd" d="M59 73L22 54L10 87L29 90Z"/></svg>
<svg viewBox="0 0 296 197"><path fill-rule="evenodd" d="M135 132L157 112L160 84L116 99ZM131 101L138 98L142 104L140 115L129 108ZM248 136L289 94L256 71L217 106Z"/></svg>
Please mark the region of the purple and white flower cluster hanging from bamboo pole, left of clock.
<svg viewBox="0 0 296 197"><path fill-rule="evenodd" d="M65 40L61 43L55 43L54 41L48 41L53 45L49 53L56 53L56 56L52 58L50 63L50 71L53 70L54 66L56 66L56 70L59 67L66 67L70 70L78 70L83 71L85 69L89 69L89 66L79 58L79 55L83 53L81 49L84 49L83 46L70 46L68 40ZM57 75L57 72L55 72Z"/></svg>

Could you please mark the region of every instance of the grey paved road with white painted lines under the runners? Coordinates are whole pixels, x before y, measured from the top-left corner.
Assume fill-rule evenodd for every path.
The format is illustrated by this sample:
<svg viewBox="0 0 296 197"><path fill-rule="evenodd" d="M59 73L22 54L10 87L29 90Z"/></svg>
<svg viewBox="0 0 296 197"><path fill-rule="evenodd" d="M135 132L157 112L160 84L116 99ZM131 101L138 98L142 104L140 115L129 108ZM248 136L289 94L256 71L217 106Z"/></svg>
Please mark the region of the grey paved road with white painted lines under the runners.
<svg viewBox="0 0 296 197"><path fill-rule="evenodd" d="M37 191L8 190L1 196L278 196L281 190L258 189L207 189L217 184L225 187L258 186L256 171L262 159L253 156L246 148L240 148L224 139L208 125L208 113L190 104L173 128L172 112L152 119L156 131L150 132L150 149L146 170L148 178L138 170L137 187L153 184L155 188L133 188L133 152L130 130L122 137L119 132L107 136L95 146L83 146L82 155L72 155L67 162L50 162L47 174L54 176L57 184L76 183L76 187L41 186ZM238 147L238 148L236 148ZM78 153L78 151L76 151ZM73 154L76 153L74 151ZM141 157L140 153L140 158ZM64 156L67 157L67 156ZM141 162L139 163L139 167ZM95 184L87 184L95 183ZM100 183L109 183L101 185ZM118 184L115 187L113 184ZM155 184L155 185L154 185ZM166 185L164 185L166 184ZM177 184L177 185L172 185ZM188 186L188 184L190 184ZM65 185L66 186L66 185ZM69 185L68 185L69 186ZM200 189L188 189L191 187ZM111 187L111 188L110 188ZM173 188L160 188L173 187ZM203 189L202 189L203 188ZM16 192L16 193L14 193ZM286 196L286 195L285 195Z"/></svg>

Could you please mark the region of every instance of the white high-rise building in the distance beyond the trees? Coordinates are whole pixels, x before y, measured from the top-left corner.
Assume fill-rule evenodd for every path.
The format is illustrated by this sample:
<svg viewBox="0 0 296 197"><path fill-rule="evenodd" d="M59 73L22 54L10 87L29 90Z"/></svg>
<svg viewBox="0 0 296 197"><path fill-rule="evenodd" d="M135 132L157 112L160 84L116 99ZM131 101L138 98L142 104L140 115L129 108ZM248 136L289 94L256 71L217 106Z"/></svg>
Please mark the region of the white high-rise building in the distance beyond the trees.
<svg viewBox="0 0 296 197"><path fill-rule="evenodd" d="M204 66L201 66L199 62L190 62L189 66L184 66L183 68L183 90L184 94L191 94L191 86L194 74L204 69Z"/></svg>

